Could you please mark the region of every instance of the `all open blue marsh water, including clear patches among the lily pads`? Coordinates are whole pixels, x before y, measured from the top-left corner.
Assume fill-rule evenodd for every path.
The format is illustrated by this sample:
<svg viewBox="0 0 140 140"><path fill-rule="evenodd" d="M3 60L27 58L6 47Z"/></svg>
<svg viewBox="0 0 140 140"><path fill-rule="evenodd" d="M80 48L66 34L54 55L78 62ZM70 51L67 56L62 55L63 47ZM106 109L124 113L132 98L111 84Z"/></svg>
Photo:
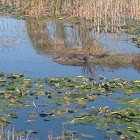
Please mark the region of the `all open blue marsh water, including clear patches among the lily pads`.
<svg viewBox="0 0 140 140"><path fill-rule="evenodd" d="M140 78L139 70L134 67L113 68L108 66L92 65L66 66L52 61L51 55L56 49L85 47L92 41L100 44L101 47L110 50L110 53L127 53L129 55L139 53L140 49L132 43L132 36L122 34L98 34L93 30L80 28L78 24L71 22L60 22L50 20L17 20L12 17L0 17L0 71L5 73L22 72L25 77L77 77L79 75L98 79L103 75L108 79L120 77L126 80ZM107 99L102 98L90 106L118 105L112 98L119 97L120 94L113 95ZM31 101L32 102L32 101ZM36 103L43 102L40 98ZM36 108L39 110L40 108ZM42 108L44 109L44 108ZM46 110L48 108L45 108ZM27 123L30 118L28 113L32 108L19 109L19 117L13 119L12 126L16 130L36 130L38 134L32 134L32 138L41 140L47 139L48 131L52 130L55 136L62 135L62 122L58 119L44 122L43 118L36 118L38 123ZM96 140L105 139L104 132L95 129L95 125L66 125L66 130L75 130L78 135L82 133L93 134ZM84 139L84 138L82 138ZM87 139L87 138L85 138Z"/></svg>

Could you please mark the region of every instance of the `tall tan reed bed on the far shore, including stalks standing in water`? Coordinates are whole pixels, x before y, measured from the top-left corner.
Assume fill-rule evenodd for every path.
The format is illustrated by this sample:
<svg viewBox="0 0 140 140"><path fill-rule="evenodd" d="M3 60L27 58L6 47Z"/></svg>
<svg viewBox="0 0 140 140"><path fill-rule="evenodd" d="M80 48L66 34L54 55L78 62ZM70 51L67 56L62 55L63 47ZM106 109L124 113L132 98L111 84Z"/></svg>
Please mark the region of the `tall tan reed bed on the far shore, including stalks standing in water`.
<svg viewBox="0 0 140 140"><path fill-rule="evenodd" d="M98 32L102 27L118 34L126 19L140 19L139 0L2 0L0 10L19 17L84 19Z"/></svg>

